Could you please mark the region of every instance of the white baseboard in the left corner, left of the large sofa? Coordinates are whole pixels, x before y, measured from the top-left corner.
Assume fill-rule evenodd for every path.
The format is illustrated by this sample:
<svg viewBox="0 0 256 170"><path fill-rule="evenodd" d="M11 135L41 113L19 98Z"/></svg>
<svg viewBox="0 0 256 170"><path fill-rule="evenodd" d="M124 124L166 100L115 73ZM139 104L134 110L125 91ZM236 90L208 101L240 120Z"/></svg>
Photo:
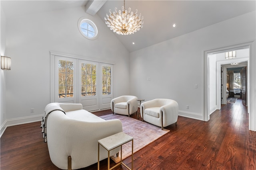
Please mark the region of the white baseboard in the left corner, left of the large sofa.
<svg viewBox="0 0 256 170"><path fill-rule="evenodd" d="M26 123L32 123L36 121L42 121L42 115L35 115L35 116L28 116L28 117L20 117L16 119L8 119L4 121L2 126L0 127L0 137L4 134L6 127L14 126L14 125L21 125Z"/></svg>

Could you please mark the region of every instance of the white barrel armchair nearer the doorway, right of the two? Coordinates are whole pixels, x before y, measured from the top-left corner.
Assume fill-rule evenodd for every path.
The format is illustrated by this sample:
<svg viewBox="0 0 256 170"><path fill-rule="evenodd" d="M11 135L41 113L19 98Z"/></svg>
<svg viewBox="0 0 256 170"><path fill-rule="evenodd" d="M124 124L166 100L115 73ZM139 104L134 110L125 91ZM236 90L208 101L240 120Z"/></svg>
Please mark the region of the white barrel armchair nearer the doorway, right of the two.
<svg viewBox="0 0 256 170"><path fill-rule="evenodd" d="M178 103L171 99L154 99L143 102L140 106L142 121L164 127L177 123Z"/></svg>

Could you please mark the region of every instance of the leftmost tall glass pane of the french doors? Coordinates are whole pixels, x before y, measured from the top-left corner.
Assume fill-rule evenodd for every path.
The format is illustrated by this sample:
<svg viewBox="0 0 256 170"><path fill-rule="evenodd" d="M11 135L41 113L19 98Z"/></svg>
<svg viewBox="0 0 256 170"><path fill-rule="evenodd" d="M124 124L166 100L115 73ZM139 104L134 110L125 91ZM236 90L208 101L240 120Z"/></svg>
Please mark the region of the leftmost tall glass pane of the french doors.
<svg viewBox="0 0 256 170"><path fill-rule="evenodd" d="M73 71L74 65L71 61L59 60L59 98L73 97Z"/></svg>

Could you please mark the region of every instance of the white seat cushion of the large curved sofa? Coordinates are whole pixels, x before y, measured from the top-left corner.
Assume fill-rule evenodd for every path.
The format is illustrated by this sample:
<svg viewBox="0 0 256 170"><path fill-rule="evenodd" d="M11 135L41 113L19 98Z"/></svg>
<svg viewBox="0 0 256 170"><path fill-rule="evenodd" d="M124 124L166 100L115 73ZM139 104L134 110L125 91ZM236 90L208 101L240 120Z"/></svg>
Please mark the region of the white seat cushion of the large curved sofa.
<svg viewBox="0 0 256 170"><path fill-rule="evenodd" d="M76 120L81 120L81 121L90 121L90 122L105 121L104 119L102 119L84 109L67 111L66 115L71 119L76 119Z"/></svg>

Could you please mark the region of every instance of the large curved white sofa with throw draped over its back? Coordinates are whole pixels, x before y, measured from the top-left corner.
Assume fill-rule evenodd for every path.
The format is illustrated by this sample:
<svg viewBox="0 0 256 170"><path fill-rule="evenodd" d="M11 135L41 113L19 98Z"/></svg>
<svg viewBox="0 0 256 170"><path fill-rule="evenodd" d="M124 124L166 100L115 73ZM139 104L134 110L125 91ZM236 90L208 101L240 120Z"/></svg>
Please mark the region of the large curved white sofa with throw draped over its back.
<svg viewBox="0 0 256 170"><path fill-rule="evenodd" d="M45 115L42 128L50 159L60 169L84 168L98 162L98 140L122 132L120 120L106 121L82 109L82 104L50 103ZM119 150L112 150L110 155ZM100 160L105 158L108 152L101 147Z"/></svg>

